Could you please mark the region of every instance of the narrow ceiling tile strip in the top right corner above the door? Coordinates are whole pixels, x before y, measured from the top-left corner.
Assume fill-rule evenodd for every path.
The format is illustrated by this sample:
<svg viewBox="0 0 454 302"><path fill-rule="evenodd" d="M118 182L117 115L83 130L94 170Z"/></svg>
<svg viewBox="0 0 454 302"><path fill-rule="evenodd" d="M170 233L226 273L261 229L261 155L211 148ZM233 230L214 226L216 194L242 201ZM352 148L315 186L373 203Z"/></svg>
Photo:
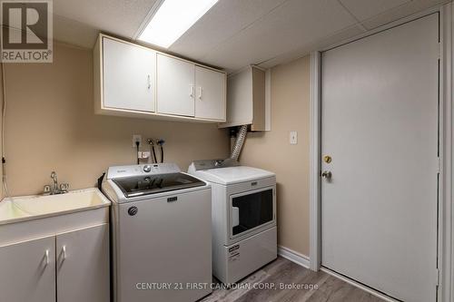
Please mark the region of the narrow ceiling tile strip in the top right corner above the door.
<svg viewBox="0 0 454 302"><path fill-rule="evenodd" d="M395 9L374 16L368 20L361 22L367 29L374 29L384 24L397 21L409 15L414 15L422 12L430 7L449 3L451 0L413 0L406 5L401 5Z"/></svg>

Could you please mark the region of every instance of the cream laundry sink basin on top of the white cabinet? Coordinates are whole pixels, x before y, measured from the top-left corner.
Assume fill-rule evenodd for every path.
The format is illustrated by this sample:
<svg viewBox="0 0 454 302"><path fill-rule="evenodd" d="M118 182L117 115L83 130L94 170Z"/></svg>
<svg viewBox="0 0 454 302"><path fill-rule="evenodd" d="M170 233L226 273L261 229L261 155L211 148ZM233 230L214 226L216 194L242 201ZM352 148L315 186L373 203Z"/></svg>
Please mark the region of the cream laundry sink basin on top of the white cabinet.
<svg viewBox="0 0 454 302"><path fill-rule="evenodd" d="M73 190L59 195L14 197L0 202L0 224L109 205L110 201L97 189Z"/></svg>

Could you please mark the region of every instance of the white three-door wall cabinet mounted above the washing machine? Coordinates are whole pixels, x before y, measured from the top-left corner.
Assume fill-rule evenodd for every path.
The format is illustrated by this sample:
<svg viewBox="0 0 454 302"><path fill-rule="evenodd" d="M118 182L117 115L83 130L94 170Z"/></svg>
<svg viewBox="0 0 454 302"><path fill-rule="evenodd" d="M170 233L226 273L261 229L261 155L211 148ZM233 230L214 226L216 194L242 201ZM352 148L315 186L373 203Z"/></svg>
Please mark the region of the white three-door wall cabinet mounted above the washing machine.
<svg viewBox="0 0 454 302"><path fill-rule="evenodd" d="M106 115L225 122L226 73L100 34L94 108Z"/></svg>

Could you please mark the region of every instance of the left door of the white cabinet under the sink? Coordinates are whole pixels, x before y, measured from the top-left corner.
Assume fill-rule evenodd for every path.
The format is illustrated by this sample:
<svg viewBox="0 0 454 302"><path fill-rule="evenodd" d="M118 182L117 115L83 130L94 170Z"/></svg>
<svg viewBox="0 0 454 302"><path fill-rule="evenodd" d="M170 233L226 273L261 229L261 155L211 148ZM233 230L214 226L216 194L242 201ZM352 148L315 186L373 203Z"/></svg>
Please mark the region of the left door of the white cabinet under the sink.
<svg viewBox="0 0 454 302"><path fill-rule="evenodd" d="M55 302L54 236L0 247L0 301Z"/></svg>

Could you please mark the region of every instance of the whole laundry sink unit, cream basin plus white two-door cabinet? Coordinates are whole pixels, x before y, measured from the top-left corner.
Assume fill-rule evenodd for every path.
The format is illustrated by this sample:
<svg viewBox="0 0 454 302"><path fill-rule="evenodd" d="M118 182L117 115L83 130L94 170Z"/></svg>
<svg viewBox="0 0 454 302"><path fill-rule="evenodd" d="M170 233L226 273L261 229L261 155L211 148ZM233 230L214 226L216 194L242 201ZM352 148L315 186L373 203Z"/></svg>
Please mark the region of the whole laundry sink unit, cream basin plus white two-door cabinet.
<svg viewBox="0 0 454 302"><path fill-rule="evenodd" d="M97 189L1 201L0 300L110 301L109 205Z"/></svg>

